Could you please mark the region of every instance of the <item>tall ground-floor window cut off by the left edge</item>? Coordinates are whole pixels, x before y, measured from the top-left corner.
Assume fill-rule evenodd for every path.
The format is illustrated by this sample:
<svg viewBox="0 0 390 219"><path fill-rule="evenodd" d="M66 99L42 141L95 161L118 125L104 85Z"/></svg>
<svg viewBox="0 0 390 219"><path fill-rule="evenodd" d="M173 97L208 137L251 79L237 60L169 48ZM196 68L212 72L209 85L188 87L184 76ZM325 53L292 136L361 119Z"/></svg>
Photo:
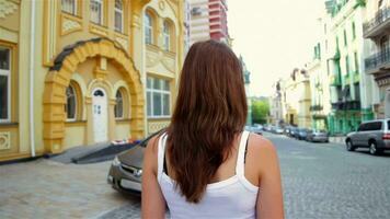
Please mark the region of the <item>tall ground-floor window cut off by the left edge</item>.
<svg viewBox="0 0 390 219"><path fill-rule="evenodd" d="M0 123L11 113L11 49L0 47Z"/></svg>

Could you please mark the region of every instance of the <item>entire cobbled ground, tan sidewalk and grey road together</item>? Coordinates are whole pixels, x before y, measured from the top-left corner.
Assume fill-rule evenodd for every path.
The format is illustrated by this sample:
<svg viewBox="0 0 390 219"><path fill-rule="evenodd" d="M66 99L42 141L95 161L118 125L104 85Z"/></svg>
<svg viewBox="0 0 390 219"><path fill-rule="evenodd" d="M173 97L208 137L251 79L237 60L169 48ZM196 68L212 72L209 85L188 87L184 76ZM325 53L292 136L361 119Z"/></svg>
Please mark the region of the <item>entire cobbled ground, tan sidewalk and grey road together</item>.
<svg viewBox="0 0 390 219"><path fill-rule="evenodd" d="M390 154L266 134L280 158L287 218L388 218ZM139 197L105 182L110 162L0 166L0 218L139 218Z"/></svg>

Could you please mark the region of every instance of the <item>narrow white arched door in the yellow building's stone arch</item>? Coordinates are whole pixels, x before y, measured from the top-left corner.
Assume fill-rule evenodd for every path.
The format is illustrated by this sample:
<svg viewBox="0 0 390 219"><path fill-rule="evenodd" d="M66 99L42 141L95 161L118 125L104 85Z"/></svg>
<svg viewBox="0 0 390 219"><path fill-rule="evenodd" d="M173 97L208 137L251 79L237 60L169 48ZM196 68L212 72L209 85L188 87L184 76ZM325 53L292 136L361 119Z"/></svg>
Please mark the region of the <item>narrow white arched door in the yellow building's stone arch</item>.
<svg viewBox="0 0 390 219"><path fill-rule="evenodd" d="M92 115L94 142L107 141L107 95L101 88L94 89L92 92Z"/></svg>

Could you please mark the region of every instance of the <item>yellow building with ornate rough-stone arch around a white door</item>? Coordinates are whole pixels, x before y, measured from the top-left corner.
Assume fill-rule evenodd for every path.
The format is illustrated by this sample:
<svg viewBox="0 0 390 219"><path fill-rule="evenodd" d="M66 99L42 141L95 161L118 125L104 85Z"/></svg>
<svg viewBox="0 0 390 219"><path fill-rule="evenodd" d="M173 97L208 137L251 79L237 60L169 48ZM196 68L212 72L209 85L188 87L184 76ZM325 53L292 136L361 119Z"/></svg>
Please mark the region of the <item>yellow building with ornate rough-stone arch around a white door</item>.
<svg viewBox="0 0 390 219"><path fill-rule="evenodd" d="M182 1L0 5L0 161L139 139L169 124Z"/></svg>

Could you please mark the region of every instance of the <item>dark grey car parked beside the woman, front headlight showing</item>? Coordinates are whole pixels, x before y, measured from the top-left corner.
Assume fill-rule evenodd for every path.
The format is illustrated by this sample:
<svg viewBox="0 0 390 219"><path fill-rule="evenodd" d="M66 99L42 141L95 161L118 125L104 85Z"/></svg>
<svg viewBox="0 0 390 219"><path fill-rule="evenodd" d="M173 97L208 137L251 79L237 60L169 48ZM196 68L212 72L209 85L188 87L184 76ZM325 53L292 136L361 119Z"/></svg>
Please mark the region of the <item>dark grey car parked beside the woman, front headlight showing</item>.
<svg viewBox="0 0 390 219"><path fill-rule="evenodd" d="M145 148L148 141L160 131L150 135L131 149L114 158L107 175L107 182L113 188L123 193L140 194Z"/></svg>

